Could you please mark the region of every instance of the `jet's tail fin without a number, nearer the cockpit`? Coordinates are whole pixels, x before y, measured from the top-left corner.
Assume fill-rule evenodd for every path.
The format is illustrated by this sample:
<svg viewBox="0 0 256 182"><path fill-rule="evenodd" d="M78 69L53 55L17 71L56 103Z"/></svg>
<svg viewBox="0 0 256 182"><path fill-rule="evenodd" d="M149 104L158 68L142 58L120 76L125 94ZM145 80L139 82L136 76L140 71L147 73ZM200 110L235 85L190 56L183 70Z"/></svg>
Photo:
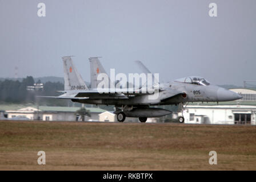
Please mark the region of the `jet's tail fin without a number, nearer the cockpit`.
<svg viewBox="0 0 256 182"><path fill-rule="evenodd" d="M90 69L91 69L91 88L97 88L99 82L97 80L99 73L106 73L105 69L102 67L99 57L90 57ZM106 73L107 74L107 73ZM109 80L110 83L110 80Z"/></svg>

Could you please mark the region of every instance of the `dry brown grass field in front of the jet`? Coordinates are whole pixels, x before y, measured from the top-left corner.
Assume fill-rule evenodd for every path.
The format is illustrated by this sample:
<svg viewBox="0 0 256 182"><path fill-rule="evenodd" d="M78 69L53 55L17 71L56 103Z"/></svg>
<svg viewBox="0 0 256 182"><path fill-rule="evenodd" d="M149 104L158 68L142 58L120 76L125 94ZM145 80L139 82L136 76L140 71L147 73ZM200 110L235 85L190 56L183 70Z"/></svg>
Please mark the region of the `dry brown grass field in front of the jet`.
<svg viewBox="0 0 256 182"><path fill-rule="evenodd" d="M256 126L0 121L0 169L256 170Z"/></svg>

